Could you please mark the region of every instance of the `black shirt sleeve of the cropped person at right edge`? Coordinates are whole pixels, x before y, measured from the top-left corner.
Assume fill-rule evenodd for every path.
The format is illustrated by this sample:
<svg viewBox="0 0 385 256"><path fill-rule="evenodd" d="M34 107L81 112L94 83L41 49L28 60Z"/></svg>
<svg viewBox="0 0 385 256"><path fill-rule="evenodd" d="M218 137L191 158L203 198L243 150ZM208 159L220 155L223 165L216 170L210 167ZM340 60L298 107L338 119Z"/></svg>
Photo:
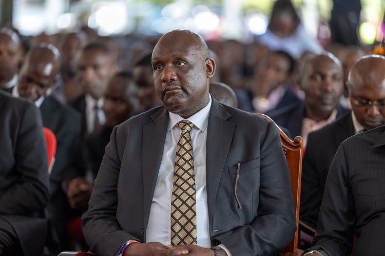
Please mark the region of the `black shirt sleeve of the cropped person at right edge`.
<svg viewBox="0 0 385 256"><path fill-rule="evenodd" d="M314 245L329 255L349 255L354 236L354 204L349 184L349 160L342 144L333 159L314 236ZM310 250L310 249L309 249Z"/></svg>

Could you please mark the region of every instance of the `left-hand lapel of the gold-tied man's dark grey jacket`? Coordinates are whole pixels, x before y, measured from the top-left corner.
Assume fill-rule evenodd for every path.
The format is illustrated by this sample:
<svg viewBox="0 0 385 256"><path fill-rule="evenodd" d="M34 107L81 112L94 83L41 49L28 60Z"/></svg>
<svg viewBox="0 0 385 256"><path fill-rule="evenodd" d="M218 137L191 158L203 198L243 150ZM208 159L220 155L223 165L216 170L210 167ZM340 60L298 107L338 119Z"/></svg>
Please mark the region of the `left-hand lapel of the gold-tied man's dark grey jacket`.
<svg viewBox="0 0 385 256"><path fill-rule="evenodd" d="M164 141L168 127L168 112L161 108L152 114L153 122L143 125L142 130L142 175L144 228L147 228L151 201L162 161ZM150 160L151 159L151 160Z"/></svg>

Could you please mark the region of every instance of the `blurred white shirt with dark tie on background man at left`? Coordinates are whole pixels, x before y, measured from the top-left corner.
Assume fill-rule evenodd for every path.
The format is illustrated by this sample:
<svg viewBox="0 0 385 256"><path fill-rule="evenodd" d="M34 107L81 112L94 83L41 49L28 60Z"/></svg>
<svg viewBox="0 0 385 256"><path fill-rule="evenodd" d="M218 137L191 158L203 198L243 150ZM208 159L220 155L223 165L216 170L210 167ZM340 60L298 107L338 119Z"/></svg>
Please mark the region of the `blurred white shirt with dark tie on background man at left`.
<svg viewBox="0 0 385 256"><path fill-rule="evenodd" d="M87 121L87 132L92 133L95 124L95 112L98 115L100 125L106 122L106 116L102 110L103 98L99 100L94 99L90 94L86 94L86 121Z"/></svg>

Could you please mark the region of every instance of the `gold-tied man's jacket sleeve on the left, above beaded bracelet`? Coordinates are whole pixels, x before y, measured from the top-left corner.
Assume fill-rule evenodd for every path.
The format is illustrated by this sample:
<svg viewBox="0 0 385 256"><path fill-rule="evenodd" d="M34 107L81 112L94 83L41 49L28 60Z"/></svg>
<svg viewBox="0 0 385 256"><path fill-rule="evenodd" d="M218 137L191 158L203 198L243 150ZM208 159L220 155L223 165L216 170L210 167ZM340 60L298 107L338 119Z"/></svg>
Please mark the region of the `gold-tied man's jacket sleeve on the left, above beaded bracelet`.
<svg viewBox="0 0 385 256"><path fill-rule="evenodd" d="M98 173L94 183L88 210L82 216L87 244L92 251L100 255L118 254L125 242L130 239L139 240L122 230L117 221L117 188L121 158L117 148L117 127L114 127L100 166L102 171ZM115 251L111 251L111 248Z"/></svg>

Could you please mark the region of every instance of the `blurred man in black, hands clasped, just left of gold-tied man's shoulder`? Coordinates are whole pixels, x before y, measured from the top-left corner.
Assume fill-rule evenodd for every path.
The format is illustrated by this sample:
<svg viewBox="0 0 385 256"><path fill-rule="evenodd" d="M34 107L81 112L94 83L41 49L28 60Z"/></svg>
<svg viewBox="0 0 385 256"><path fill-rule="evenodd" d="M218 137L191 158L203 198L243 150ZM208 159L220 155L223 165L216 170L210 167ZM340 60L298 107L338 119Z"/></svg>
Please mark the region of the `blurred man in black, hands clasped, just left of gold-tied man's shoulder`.
<svg viewBox="0 0 385 256"><path fill-rule="evenodd" d="M106 123L102 129L87 135L85 139L88 169L92 173L92 180L98 175L113 127L126 121L139 110L138 86L133 82L132 74L130 72L115 74L108 82L103 98ZM92 187L92 182L84 177L72 179L67 188L71 208L85 212Z"/></svg>

